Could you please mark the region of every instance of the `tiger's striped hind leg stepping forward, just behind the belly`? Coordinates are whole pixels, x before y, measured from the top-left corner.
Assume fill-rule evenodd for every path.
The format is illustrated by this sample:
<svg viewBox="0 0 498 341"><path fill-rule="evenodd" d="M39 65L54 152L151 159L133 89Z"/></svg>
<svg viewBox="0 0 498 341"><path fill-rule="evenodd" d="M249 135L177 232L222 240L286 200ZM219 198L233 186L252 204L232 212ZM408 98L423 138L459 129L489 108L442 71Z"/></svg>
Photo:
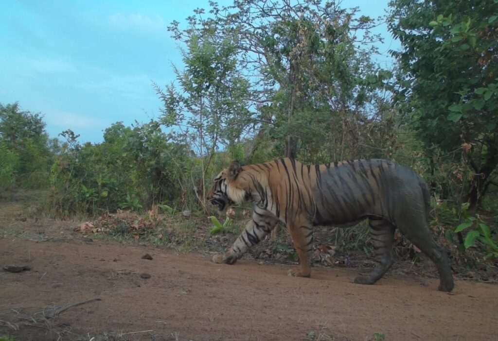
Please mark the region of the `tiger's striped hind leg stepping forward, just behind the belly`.
<svg viewBox="0 0 498 341"><path fill-rule="evenodd" d="M383 219L369 219L370 235L377 265L367 276L358 276L354 282L358 284L374 284L391 267L393 261L392 243L395 227Z"/></svg>

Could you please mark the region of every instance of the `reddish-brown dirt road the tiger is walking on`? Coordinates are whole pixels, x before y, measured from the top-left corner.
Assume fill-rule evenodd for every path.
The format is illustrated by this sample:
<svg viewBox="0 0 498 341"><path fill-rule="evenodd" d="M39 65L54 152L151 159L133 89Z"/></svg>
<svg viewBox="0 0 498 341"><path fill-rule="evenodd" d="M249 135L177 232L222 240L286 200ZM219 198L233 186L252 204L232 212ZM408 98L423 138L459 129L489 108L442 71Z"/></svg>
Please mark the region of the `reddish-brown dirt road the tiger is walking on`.
<svg viewBox="0 0 498 341"><path fill-rule="evenodd" d="M145 253L153 259L141 259ZM447 294L436 290L435 279L390 276L362 286L351 283L357 272L345 269L314 268L312 278L292 278L286 276L289 266L219 265L207 255L82 240L0 239L0 264L31 266L0 275L0 335L23 339L58 336L50 328L22 325L21 316L92 298L101 300L70 308L51 322L56 331L71 330L63 340L492 340L498 335L498 287L490 284L457 281L454 293ZM15 326L20 330L14 332Z"/></svg>

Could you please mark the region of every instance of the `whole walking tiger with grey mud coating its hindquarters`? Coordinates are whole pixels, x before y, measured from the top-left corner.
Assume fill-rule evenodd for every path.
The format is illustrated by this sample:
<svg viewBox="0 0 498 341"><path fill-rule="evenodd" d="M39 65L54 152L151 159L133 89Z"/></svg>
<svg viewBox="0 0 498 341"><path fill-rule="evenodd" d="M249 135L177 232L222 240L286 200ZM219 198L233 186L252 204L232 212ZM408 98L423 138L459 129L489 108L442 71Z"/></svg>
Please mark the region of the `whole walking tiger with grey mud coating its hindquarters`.
<svg viewBox="0 0 498 341"><path fill-rule="evenodd" d="M222 216L234 204L252 203L251 219L225 254L213 256L215 263L234 264L282 222L299 257L288 275L310 277L313 227L351 227L368 219L376 265L354 283L374 284L382 278L393 263L394 232L399 229L436 264L438 289L453 290L448 253L429 229L427 183L392 161L305 165L284 158L246 166L233 161L214 178L206 199Z"/></svg>

